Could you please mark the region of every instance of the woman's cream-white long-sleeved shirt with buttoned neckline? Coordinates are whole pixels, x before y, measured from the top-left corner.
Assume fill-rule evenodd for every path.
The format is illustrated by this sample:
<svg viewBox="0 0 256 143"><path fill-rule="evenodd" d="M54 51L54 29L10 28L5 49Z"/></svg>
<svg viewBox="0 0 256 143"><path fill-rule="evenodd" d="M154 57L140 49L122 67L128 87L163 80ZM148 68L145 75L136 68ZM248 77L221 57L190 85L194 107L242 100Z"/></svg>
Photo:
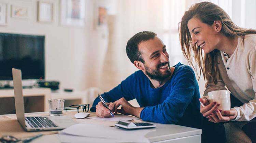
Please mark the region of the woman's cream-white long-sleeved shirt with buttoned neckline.
<svg viewBox="0 0 256 143"><path fill-rule="evenodd" d="M256 117L256 34L246 35L244 42L238 37L238 45L228 58L221 52L222 60L238 100L243 106L234 107L238 114L234 121L250 121Z"/></svg>

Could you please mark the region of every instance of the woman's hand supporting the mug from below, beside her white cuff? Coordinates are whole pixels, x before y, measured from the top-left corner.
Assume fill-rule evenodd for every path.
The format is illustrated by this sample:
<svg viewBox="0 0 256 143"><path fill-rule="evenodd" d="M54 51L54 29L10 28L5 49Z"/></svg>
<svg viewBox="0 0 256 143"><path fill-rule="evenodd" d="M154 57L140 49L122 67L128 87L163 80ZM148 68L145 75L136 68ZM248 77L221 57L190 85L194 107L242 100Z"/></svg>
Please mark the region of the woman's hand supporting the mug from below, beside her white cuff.
<svg viewBox="0 0 256 143"><path fill-rule="evenodd" d="M236 109L230 109L230 110L224 111L223 114L221 114L221 110L216 110L216 113L211 113L211 115L208 116L209 121L213 123L228 122L230 120L235 119L236 117L237 117Z"/></svg>

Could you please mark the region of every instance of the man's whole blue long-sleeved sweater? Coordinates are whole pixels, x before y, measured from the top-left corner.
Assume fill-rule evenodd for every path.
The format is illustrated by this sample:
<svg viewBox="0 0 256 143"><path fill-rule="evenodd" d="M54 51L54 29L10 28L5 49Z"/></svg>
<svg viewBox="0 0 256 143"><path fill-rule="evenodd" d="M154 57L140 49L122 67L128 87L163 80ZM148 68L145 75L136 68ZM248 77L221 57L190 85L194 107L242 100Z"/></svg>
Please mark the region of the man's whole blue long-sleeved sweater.
<svg viewBox="0 0 256 143"><path fill-rule="evenodd" d="M140 113L144 121L201 128L200 93L194 71L180 62L174 67L171 79L159 88L152 88L140 70L101 95L106 102L122 97L127 101L136 99L144 107ZM90 111L96 110L99 101L97 97Z"/></svg>

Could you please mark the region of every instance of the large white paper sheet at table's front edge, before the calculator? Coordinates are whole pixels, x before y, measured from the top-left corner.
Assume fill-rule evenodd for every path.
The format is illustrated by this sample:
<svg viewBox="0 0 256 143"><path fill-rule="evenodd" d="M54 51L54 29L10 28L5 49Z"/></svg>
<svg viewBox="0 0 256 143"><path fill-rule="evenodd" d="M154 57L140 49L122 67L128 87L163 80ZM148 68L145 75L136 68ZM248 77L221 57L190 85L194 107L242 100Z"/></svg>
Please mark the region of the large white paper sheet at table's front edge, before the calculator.
<svg viewBox="0 0 256 143"><path fill-rule="evenodd" d="M60 131L60 133L62 135L63 133L65 133L66 135L79 136L77 138L98 138L103 140L111 140L112 142L115 142L115 140L117 140L117 142L119 143L147 143L149 141L144 136L152 130L155 129L125 130L118 127L109 127L98 124L76 124ZM59 137L66 138L66 136L62 135L60 135Z"/></svg>

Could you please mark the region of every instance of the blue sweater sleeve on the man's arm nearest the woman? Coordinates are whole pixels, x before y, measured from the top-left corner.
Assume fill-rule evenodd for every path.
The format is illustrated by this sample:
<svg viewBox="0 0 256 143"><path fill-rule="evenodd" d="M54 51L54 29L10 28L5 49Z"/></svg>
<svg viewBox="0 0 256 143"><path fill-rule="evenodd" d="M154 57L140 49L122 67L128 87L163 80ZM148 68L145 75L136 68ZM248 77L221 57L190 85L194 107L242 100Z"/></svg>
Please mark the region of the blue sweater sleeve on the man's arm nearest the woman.
<svg viewBox="0 0 256 143"><path fill-rule="evenodd" d="M172 79L171 92L166 100L161 104L145 107L141 111L141 119L163 124L179 122L195 92L195 75L191 70L184 69L177 73L179 75Z"/></svg>

